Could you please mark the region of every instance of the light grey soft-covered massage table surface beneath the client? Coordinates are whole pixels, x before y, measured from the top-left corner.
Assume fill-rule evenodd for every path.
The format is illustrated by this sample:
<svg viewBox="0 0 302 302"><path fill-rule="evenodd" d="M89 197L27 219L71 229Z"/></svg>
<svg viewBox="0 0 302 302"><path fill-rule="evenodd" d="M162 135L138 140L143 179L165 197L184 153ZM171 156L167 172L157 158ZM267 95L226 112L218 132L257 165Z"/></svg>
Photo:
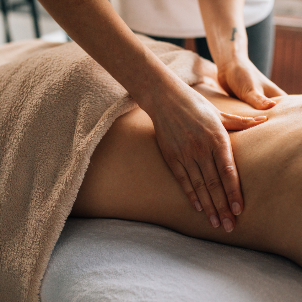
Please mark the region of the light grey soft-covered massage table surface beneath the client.
<svg viewBox="0 0 302 302"><path fill-rule="evenodd" d="M164 227L69 218L41 302L291 302L302 268L277 255L194 239Z"/></svg>

